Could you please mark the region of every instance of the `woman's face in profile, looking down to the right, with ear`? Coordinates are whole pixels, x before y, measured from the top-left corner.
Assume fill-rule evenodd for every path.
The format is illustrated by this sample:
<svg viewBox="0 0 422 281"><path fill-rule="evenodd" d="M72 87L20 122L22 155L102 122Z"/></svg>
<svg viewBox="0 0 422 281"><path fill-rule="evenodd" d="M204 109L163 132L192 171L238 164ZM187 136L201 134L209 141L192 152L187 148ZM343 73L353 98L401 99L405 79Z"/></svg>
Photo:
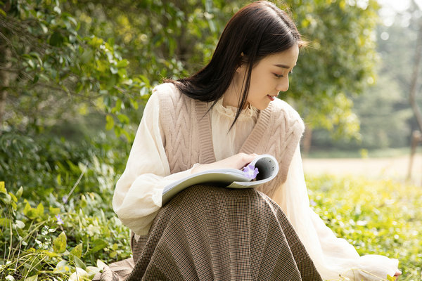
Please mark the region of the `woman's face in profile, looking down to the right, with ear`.
<svg viewBox="0 0 422 281"><path fill-rule="evenodd" d="M252 68L248 103L258 110L264 110L279 95L288 90L288 74L298 61L299 47L296 44L286 51L267 55ZM248 71L246 66L238 68L239 77ZM243 79L241 79L243 81Z"/></svg>

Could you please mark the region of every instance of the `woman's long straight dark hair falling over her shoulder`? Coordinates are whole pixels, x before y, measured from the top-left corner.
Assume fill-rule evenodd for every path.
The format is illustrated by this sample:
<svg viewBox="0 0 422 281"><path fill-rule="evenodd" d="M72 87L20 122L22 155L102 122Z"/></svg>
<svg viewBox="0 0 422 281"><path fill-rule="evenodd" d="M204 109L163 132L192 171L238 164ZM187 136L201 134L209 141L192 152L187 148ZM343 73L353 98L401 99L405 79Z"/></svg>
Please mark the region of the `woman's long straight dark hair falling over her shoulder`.
<svg viewBox="0 0 422 281"><path fill-rule="evenodd" d="M302 46L305 42L288 14L271 2L257 1L241 8L227 22L210 63L191 77L170 82L189 98L214 102L212 108L229 88L236 69L246 63L245 86L233 126L246 105L252 67L265 56L295 44Z"/></svg>

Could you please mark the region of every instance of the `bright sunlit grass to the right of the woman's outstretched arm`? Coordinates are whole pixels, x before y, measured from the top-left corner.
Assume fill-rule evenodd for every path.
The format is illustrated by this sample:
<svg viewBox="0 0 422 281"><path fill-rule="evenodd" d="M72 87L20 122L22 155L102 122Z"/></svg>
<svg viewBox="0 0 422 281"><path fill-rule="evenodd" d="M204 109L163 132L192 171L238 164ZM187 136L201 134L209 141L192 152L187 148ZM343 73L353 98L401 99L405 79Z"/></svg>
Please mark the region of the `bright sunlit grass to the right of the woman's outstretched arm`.
<svg viewBox="0 0 422 281"><path fill-rule="evenodd" d="M399 280L421 280L422 188L391 180L307 176L313 209L359 254L399 259Z"/></svg>

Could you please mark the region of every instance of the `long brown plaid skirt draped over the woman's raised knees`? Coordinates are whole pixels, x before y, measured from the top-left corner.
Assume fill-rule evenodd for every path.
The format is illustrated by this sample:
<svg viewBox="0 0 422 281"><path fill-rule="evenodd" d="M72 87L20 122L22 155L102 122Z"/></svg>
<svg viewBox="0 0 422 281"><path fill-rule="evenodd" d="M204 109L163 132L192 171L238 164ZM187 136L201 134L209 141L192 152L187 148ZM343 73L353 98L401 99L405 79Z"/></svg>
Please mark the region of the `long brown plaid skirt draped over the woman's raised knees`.
<svg viewBox="0 0 422 281"><path fill-rule="evenodd" d="M127 280L321 280L283 211L254 189L187 188L131 244Z"/></svg>

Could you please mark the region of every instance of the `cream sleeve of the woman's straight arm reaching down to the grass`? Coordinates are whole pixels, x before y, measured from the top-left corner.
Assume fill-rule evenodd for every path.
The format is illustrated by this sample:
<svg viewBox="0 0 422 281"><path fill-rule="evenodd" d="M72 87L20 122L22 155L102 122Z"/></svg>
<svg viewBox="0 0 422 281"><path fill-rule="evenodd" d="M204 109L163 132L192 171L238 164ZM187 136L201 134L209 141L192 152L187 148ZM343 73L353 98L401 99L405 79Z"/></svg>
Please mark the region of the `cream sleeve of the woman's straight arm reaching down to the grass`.
<svg viewBox="0 0 422 281"><path fill-rule="evenodd" d="M295 151L287 180L272 198L288 217L324 280L381 280L395 275L398 261L386 256L359 256L352 244L335 236L309 207L300 148Z"/></svg>

